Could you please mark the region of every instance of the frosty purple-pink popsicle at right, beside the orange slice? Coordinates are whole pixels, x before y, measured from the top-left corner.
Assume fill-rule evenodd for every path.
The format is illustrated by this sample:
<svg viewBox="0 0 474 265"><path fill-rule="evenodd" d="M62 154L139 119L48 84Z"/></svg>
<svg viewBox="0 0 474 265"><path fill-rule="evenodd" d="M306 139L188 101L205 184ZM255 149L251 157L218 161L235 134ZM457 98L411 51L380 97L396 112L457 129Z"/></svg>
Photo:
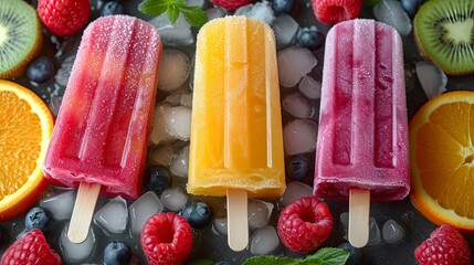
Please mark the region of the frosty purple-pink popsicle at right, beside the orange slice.
<svg viewBox="0 0 474 265"><path fill-rule="evenodd" d="M405 198L408 118L397 31L373 20L336 24L326 38L323 76L315 195Z"/></svg>

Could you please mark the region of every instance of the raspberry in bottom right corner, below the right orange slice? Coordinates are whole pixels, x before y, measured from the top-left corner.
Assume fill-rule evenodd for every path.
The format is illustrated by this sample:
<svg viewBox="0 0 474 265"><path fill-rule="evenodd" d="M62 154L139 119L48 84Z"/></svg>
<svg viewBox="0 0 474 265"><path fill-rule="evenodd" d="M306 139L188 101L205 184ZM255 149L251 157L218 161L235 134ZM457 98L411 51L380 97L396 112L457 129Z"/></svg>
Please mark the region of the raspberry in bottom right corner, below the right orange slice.
<svg viewBox="0 0 474 265"><path fill-rule="evenodd" d="M472 264L471 250L463 235L453 226L441 225L414 250L421 265Z"/></svg>

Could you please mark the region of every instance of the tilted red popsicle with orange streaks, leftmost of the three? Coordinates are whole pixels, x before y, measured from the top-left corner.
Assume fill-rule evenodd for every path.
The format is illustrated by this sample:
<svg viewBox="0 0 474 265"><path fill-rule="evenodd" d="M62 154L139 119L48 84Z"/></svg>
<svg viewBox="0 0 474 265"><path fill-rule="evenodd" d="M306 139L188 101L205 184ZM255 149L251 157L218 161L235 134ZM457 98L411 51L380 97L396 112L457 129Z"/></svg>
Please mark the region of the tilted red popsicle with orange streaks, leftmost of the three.
<svg viewBox="0 0 474 265"><path fill-rule="evenodd" d="M52 183L138 198L160 53L141 20L110 15L87 26L43 165Z"/></svg>

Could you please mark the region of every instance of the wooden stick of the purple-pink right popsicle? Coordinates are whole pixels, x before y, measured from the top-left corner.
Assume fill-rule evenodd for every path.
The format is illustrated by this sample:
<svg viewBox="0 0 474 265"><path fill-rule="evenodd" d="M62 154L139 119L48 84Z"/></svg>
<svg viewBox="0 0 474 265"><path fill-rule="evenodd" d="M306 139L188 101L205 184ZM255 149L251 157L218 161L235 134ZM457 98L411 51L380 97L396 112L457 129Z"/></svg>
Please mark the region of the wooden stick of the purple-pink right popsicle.
<svg viewBox="0 0 474 265"><path fill-rule="evenodd" d="M370 190L349 190L349 242L362 247L369 242Z"/></svg>

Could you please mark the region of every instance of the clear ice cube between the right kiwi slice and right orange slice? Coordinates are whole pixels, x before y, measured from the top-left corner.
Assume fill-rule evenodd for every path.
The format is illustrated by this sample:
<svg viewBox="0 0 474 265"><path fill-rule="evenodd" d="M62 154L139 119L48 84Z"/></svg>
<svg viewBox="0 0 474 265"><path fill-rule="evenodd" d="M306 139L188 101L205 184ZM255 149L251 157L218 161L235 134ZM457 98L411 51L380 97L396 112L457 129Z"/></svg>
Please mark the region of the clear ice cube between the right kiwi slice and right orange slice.
<svg viewBox="0 0 474 265"><path fill-rule="evenodd" d="M426 61L418 62L417 76L428 98L446 92L447 76L436 65Z"/></svg>

